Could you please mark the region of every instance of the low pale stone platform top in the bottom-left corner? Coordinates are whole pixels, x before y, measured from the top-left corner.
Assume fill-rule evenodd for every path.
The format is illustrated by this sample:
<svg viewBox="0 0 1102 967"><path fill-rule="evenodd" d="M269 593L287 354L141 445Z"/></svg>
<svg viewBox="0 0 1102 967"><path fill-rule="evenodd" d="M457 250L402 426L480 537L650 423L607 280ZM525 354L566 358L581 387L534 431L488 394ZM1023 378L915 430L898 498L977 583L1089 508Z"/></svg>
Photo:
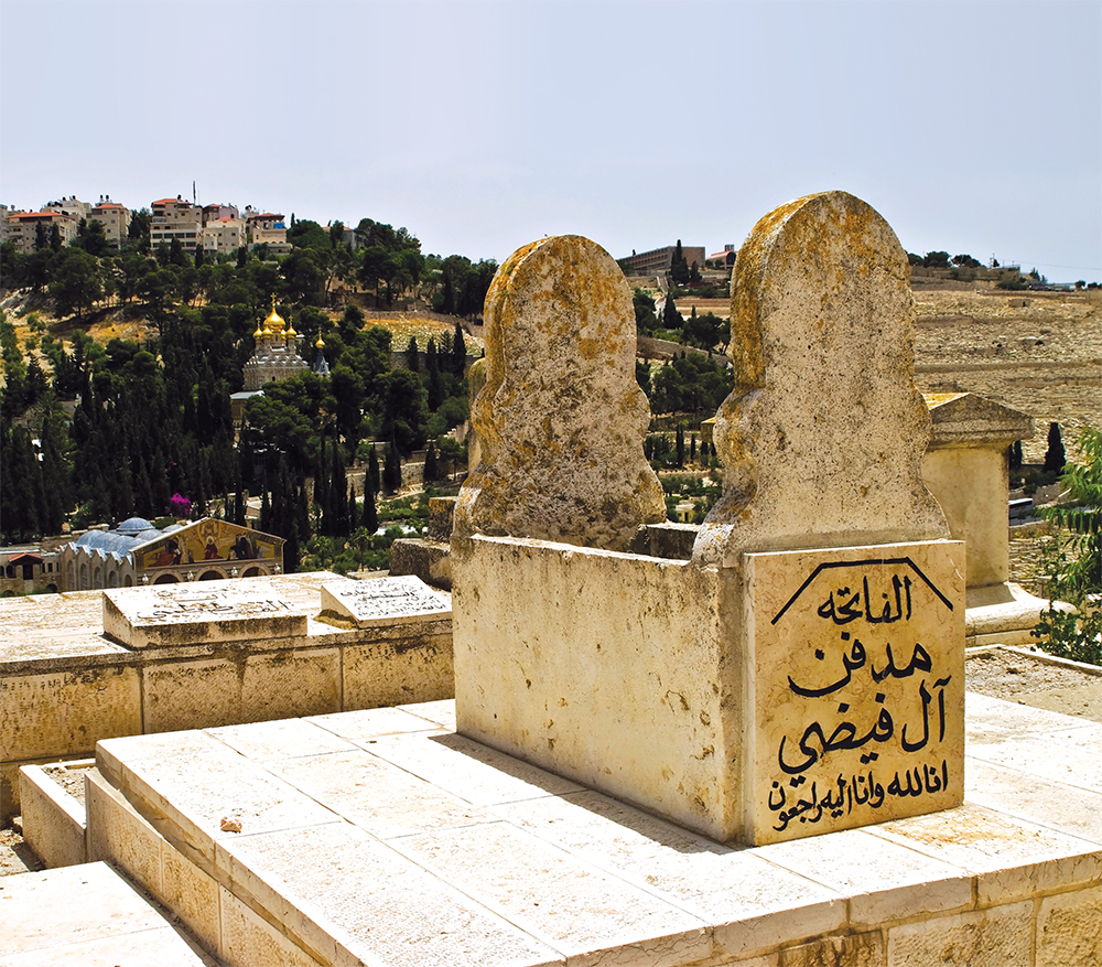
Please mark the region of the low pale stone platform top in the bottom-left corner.
<svg viewBox="0 0 1102 967"><path fill-rule="evenodd" d="M107 863L0 880L3 967L217 967Z"/></svg>

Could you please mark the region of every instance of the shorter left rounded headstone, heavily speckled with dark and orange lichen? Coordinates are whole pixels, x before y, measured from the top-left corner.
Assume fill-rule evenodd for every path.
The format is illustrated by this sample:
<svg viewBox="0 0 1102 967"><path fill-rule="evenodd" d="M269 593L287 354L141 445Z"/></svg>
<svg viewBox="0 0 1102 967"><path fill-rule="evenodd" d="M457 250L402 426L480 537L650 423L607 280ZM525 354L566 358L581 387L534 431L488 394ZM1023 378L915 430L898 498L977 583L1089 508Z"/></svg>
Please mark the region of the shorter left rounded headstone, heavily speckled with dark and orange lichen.
<svg viewBox="0 0 1102 967"><path fill-rule="evenodd" d="M486 385L472 406L480 459L456 536L628 548L666 505L642 453L649 413L624 273L587 238L544 238L501 266L485 314Z"/></svg>

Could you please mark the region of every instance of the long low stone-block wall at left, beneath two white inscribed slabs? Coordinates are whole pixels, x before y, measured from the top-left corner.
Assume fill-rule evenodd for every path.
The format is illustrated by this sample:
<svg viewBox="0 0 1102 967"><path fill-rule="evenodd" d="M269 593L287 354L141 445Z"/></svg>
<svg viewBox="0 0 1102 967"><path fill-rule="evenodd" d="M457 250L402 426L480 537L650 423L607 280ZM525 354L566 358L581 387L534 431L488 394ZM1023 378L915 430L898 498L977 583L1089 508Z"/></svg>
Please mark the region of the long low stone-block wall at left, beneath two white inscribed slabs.
<svg viewBox="0 0 1102 967"><path fill-rule="evenodd" d="M123 632L127 644L99 631L105 616L120 623L101 591L0 602L11 635L0 663L0 814L18 809L21 765L88 756L100 739L451 698L451 614L317 621L322 587L346 583L365 582L315 573L172 585L262 589L290 602L290 623L242 637L158 620Z"/></svg>

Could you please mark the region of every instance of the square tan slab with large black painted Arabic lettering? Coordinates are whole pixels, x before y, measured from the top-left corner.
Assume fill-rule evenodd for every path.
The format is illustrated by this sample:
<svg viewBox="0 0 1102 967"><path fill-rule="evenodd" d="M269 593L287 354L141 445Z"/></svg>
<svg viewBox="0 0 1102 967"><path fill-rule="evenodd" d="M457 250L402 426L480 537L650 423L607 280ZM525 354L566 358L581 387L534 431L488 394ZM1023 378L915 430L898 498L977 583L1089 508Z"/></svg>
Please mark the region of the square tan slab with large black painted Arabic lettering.
<svg viewBox="0 0 1102 967"><path fill-rule="evenodd" d="M745 555L753 841L963 802L962 559L955 541Z"/></svg>

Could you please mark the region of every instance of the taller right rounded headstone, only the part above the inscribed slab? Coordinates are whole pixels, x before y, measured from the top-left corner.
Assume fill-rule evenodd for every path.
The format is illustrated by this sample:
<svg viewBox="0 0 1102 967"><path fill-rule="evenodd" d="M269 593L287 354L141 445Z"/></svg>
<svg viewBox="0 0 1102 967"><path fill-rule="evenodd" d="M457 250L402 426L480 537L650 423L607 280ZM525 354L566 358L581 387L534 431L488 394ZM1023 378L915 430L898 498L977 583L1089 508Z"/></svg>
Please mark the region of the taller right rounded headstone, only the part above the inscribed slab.
<svg viewBox="0 0 1102 967"><path fill-rule="evenodd" d="M695 557L948 537L922 483L907 254L845 192L766 215L732 287L735 389L716 413L724 494Z"/></svg>

